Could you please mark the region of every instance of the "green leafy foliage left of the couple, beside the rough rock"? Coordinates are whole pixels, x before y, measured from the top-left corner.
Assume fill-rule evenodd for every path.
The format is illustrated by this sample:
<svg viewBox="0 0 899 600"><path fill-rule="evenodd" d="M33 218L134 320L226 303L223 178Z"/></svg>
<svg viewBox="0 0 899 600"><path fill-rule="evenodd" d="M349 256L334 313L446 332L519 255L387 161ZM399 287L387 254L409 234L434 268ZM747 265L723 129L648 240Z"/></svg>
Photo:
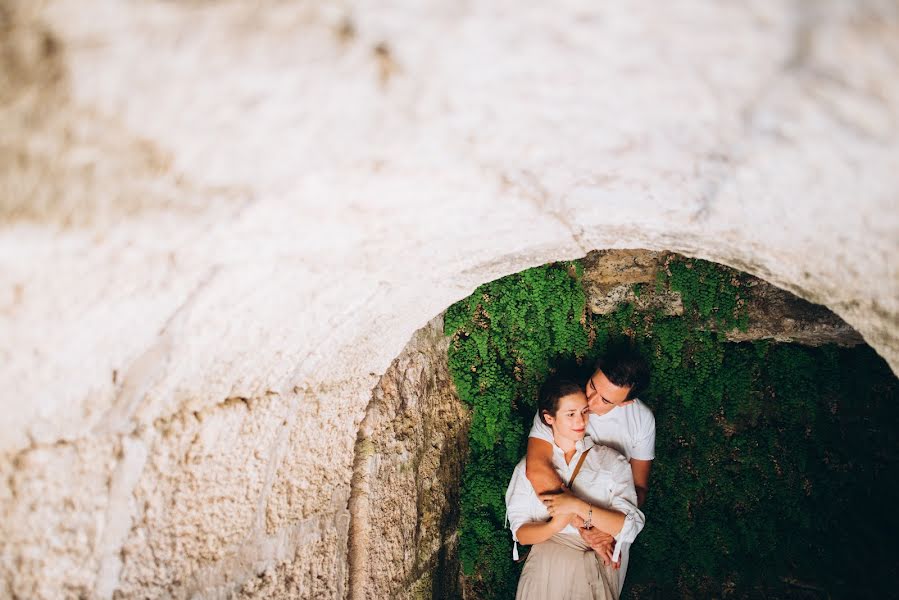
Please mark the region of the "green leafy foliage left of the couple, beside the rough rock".
<svg viewBox="0 0 899 600"><path fill-rule="evenodd" d="M460 551L479 598L515 595L519 567L503 527L503 495L550 363L590 346L580 276L573 263L531 269L481 286L446 313L450 370L473 410Z"/></svg>

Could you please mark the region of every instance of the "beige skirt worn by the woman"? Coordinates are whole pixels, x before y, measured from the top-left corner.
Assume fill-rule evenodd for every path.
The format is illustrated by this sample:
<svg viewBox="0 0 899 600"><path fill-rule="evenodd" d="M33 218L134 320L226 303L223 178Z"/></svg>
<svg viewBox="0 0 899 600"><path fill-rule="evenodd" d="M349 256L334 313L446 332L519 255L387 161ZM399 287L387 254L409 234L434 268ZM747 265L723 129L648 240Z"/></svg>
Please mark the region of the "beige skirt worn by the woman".
<svg viewBox="0 0 899 600"><path fill-rule="evenodd" d="M580 538L557 533L534 544L516 600L618 600L618 571L603 566Z"/></svg>

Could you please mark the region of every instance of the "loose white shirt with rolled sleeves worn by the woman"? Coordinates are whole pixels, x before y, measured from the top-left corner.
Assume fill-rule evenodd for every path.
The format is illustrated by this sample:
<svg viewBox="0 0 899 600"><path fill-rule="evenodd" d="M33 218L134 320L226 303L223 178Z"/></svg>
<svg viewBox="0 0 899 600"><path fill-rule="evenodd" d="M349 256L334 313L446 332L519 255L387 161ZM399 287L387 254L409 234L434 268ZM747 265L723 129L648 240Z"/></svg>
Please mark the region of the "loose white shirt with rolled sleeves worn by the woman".
<svg viewBox="0 0 899 600"><path fill-rule="evenodd" d="M624 526L615 536L615 539L621 542L615 544L613 560L617 561L622 548L624 547L624 551L627 552L630 542L633 542L643 529L644 523L643 513L637 508L637 492L634 489L634 476L631 473L630 463L612 448L594 445L590 438L585 437L578 442L577 450L567 464L564 452L553 443L553 468L562 481L569 482L581 454L588 450L587 458L584 459L571 491L594 506L624 514ZM522 458L515 466L512 480L506 489L506 516L512 530L512 538L516 543L519 527L525 523L547 521L550 518L549 512L534 491L534 486L528 481L525 461L526 459ZM571 525L567 525L560 533L574 535L580 539L577 529Z"/></svg>

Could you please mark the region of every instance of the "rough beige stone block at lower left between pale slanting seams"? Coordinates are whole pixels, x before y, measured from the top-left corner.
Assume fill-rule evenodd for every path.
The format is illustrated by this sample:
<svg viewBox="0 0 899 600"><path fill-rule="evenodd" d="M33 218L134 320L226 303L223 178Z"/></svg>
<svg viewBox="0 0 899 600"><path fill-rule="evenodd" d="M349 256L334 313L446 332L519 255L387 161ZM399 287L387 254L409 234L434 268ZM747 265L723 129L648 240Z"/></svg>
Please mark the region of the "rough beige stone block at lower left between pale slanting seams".
<svg viewBox="0 0 899 600"><path fill-rule="evenodd" d="M252 570L255 557L245 551L264 533L260 504L289 409L277 396L230 398L156 425L132 490L136 511L121 546L120 594L190 597L208 585L211 565Z"/></svg>

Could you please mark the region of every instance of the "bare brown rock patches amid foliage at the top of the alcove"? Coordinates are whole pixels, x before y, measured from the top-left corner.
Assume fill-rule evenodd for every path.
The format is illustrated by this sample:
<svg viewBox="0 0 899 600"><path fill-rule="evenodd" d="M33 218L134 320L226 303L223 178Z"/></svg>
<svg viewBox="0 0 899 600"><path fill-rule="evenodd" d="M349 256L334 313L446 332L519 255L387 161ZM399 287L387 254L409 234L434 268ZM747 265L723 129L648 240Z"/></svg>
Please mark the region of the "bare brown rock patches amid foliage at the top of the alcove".
<svg viewBox="0 0 899 600"><path fill-rule="evenodd" d="M665 268L668 252L648 250L598 250L584 259L584 290L594 314L609 314L624 302L641 309L681 315L684 305L677 292L656 291L656 275ZM827 308L777 288L757 277L746 277L746 308L750 325L746 331L732 330L727 338L735 342L771 339L811 346L839 344L855 346L862 337ZM634 291L641 286L638 294ZM714 329L714 323L708 324Z"/></svg>

